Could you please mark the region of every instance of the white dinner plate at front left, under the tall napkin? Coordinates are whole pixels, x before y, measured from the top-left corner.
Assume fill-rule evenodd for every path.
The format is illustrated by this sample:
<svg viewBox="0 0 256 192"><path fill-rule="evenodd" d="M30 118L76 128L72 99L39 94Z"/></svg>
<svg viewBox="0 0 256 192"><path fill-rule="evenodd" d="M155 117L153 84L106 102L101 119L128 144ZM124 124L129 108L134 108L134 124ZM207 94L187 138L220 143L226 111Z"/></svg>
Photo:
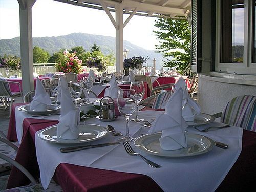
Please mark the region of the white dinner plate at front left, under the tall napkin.
<svg viewBox="0 0 256 192"><path fill-rule="evenodd" d="M78 144L98 140L105 137L109 133L105 127L95 124L79 124L78 129L80 132L79 137L74 140L62 139L61 137L57 138L57 125L41 130L38 136L42 140L52 143Z"/></svg>

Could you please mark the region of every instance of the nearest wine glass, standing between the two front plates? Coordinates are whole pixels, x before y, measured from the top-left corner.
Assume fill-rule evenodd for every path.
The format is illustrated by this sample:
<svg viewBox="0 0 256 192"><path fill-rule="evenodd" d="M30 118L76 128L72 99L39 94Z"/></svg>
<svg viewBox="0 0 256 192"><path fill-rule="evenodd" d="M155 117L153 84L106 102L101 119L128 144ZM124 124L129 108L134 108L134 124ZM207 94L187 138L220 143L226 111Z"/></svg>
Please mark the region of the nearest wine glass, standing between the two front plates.
<svg viewBox="0 0 256 192"><path fill-rule="evenodd" d="M118 139L121 142L133 142L135 138L129 134L129 117L135 112L136 99L133 97L135 90L123 89L119 90L117 94L117 106L119 112L126 118L126 134L124 137Z"/></svg>

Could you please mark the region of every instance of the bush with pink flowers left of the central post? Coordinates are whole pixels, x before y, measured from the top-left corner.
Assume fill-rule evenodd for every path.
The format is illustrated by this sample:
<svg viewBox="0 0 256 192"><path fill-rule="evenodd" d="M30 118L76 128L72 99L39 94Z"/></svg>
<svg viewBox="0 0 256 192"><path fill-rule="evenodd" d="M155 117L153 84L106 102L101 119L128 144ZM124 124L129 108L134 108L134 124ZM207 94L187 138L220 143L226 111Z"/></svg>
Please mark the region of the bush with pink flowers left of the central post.
<svg viewBox="0 0 256 192"><path fill-rule="evenodd" d="M57 71L64 73L79 74L82 72L82 60L76 56L76 51L69 53L65 50L63 55L57 60L55 68Z"/></svg>

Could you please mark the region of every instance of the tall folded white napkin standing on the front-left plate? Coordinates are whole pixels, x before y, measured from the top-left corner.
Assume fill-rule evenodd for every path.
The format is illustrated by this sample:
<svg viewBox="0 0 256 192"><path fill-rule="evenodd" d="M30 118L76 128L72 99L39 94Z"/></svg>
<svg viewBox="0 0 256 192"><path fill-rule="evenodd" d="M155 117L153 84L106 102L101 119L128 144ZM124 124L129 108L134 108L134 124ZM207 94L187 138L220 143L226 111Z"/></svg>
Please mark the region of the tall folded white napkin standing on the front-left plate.
<svg viewBox="0 0 256 192"><path fill-rule="evenodd" d="M61 109L57 126L57 137L68 140L77 139L79 136L77 126L80 120L80 111L79 108L75 107L71 99L68 83L65 78L60 76L59 79L61 87Z"/></svg>

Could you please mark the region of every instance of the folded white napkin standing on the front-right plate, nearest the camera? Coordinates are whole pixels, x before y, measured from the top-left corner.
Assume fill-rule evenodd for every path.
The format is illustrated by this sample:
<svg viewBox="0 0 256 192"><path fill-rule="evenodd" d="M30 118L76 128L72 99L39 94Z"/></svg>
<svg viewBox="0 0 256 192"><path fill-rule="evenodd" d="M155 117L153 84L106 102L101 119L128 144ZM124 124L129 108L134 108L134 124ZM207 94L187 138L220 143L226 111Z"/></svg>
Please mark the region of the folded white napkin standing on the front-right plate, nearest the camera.
<svg viewBox="0 0 256 192"><path fill-rule="evenodd" d="M148 134L162 131L159 139L163 150L178 150L187 147L185 129L188 127L181 115L182 89L179 88L168 100L164 114L156 117Z"/></svg>

